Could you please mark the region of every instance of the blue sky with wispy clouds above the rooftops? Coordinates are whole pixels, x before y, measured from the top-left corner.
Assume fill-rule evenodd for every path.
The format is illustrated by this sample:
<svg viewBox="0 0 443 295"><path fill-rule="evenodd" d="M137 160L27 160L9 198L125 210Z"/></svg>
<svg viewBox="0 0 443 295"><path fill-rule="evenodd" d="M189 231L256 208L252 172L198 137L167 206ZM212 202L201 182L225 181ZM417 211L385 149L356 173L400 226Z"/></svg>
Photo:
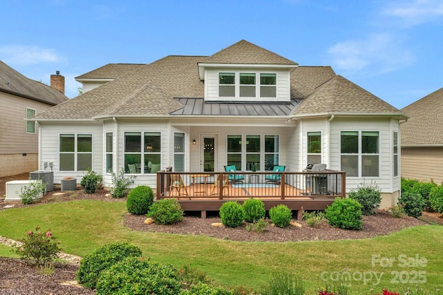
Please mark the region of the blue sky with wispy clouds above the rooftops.
<svg viewBox="0 0 443 295"><path fill-rule="evenodd" d="M49 84L109 63L212 55L246 39L300 66L332 66L392 106L443 87L443 0L8 0L0 60ZM197 68L196 68L197 70Z"/></svg>

